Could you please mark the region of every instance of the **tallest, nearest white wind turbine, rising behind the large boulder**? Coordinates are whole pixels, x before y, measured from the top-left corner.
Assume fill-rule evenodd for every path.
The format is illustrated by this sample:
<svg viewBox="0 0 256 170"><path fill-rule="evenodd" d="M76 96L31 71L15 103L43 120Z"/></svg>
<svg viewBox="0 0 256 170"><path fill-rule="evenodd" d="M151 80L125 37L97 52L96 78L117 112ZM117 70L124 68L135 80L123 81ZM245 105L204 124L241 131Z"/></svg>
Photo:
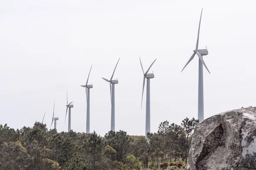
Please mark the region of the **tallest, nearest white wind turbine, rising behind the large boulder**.
<svg viewBox="0 0 256 170"><path fill-rule="evenodd" d="M199 31L200 31L202 12L203 12L203 8L202 8L202 11L201 11L200 21L199 21L199 26L198 26L198 37L197 37L197 41L196 41L196 46L195 46L195 50L193 51L194 53L192 54L192 56L190 57L189 61L184 66L184 68L185 68L189 64L189 62L191 62L191 60L195 57L195 54L198 55L198 57L199 57L199 64L198 64L198 119L199 119L199 122L204 120L203 65L207 69L209 74L211 74L210 71L208 70L205 62L204 62L203 57L202 57L202 56L206 56L208 54L208 50L207 49L201 49L201 50L198 49ZM184 70L184 68L182 69L182 71Z"/></svg>

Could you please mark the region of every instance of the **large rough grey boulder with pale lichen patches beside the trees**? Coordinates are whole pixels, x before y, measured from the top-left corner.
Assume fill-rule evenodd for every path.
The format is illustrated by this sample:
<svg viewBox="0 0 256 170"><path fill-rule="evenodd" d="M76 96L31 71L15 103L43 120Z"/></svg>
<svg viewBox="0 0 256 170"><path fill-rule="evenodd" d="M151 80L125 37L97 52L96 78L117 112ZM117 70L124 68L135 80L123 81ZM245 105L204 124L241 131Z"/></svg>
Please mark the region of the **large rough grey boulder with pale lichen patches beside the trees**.
<svg viewBox="0 0 256 170"><path fill-rule="evenodd" d="M209 117L193 133L186 170L256 170L256 108Z"/></svg>

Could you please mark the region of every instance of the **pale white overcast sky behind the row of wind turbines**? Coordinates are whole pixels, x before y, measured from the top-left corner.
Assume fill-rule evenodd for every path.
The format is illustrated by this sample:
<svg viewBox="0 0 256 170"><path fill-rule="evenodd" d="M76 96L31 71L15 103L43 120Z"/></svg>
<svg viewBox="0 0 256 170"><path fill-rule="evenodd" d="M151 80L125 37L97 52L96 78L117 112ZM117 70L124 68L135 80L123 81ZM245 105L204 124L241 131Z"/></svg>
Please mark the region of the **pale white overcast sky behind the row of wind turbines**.
<svg viewBox="0 0 256 170"><path fill-rule="evenodd" d="M21 128L36 120L58 132L64 125L66 90L73 101L71 127L85 132L85 84L89 83L90 131L110 130L110 79L114 78L116 130L145 134L143 72L157 59L151 79L151 132L160 122L180 124L198 114L198 57L193 54L203 7L199 48L204 61L204 117L255 106L255 1L1 0L0 124ZM145 91L144 91L145 97Z"/></svg>

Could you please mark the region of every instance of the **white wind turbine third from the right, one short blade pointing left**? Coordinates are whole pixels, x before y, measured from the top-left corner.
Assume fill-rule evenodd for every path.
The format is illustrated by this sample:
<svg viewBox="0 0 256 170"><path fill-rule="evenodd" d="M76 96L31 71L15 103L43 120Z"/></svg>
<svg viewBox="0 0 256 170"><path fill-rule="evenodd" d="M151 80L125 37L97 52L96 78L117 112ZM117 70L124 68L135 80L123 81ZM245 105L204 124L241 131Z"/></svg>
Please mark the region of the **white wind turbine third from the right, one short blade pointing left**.
<svg viewBox="0 0 256 170"><path fill-rule="evenodd" d="M120 59L120 58L119 58ZM116 63L116 66L119 62L119 59ZM116 71L116 67L113 71L113 74L110 78L110 80L105 79L102 77L102 79L104 79L105 81L109 82L109 87L110 87L110 98L111 98L111 130L115 131L115 84L118 84L118 80L112 80L113 79L113 75Z"/></svg>

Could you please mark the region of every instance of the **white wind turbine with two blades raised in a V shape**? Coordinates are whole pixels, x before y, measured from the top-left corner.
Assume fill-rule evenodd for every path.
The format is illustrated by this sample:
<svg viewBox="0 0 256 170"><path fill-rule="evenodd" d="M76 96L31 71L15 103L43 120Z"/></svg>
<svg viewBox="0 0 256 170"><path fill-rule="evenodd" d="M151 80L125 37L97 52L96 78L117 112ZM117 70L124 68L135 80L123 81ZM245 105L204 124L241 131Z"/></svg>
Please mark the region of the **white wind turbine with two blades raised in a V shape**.
<svg viewBox="0 0 256 170"><path fill-rule="evenodd" d="M146 99L146 127L145 127L145 137L147 136L147 133L150 133L150 79L154 78L154 73L148 73L149 69L152 67L154 62L157 59L155 59L152 64L149 66L148 70L144 72L143 66L140 60L140 65L143 71L143 88L142 88L142 98L141 98L141 108L142 108L142 101L143 101L143 92L144 92L144 86L145 86L145 79L147 79L147 99Z"/></svg>

